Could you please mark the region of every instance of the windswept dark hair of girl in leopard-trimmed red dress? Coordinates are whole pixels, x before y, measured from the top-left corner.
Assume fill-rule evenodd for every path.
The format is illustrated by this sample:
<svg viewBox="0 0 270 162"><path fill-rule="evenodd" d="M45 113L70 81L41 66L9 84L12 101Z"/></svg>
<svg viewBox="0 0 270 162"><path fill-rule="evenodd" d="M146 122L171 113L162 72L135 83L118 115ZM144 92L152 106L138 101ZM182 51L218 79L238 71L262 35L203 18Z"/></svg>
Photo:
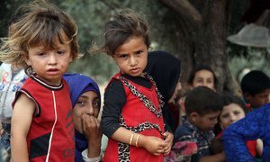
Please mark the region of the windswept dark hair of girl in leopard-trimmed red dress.
<svg viewBox="0 0 270 162"><path fill-rule="evenodd" d="M123 9L113 14L105 24L103 48L108 55L114 55L115 50L130 37L142 37L147 48L150 46L148 23L139 14L130 9Z"/></svg>

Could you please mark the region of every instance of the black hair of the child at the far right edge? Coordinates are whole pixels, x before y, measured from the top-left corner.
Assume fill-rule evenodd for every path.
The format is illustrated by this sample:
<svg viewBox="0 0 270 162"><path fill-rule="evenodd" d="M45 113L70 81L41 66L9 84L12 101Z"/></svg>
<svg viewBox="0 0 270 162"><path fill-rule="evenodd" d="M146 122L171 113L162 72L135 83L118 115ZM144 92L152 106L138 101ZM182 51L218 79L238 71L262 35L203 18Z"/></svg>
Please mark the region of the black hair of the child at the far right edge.
<svg viewBox="0 0 270 162"><path fill-rule="evenodd" d="M247 73L241 80L242 93L251 95L259 94L270 88L270 78L259 70L253 70Z"/></svg>

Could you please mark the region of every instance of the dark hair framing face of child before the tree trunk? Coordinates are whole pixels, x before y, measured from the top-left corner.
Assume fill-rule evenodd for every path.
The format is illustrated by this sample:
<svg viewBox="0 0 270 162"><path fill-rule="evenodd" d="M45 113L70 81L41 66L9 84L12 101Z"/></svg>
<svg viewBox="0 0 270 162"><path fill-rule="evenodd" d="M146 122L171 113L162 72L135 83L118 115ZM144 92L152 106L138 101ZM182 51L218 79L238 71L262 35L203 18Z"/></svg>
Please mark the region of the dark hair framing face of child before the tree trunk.
<svg viewBox="0 0 270 162"><path fill-rule="evenodd" d="M195 77L195 74L198 71L201 71L201 70L207 70L207 71L210 71L212 73L212 76L214 78L214 87L217 88L217 86L218 86L218 78L215 75L215 73L213 72L213 70L211 69L211 67L209 67L207 65L197 65L197 66L193 67L193 70L191 71L191 73L190 73L190 75L189 75L189 77L187 79L187 84L193 85L193 79Z"/></svg>

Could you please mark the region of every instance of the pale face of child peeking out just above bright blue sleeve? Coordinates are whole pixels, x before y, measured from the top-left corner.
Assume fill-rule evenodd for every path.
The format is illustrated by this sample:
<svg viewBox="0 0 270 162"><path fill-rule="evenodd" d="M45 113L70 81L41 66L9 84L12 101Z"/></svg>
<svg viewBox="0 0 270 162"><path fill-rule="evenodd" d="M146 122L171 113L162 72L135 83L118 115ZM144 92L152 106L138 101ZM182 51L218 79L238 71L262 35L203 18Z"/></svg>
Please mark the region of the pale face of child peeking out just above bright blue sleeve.
<svg viewBox="0 0 270 162"><path fill-rule="evenodd" d="M220 112L220 126L222 130L229 127L230 124L245 117L244 110L236 103L230 103L223 107Z"/></svg>

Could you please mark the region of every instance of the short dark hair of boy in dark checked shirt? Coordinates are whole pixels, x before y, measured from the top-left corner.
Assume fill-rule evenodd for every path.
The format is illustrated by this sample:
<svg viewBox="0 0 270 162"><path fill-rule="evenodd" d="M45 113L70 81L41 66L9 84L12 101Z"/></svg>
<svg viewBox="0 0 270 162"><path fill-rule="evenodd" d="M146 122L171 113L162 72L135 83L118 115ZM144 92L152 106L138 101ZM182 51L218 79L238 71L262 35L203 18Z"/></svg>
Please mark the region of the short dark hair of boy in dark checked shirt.
<svg viewBox="0 0 270 162"><path fill-rule="evenodd" d="M206 86L198 86L187 93L184 100L187 115L197 112L200 115L219 112L222 109L220 95Z"/></svg>

